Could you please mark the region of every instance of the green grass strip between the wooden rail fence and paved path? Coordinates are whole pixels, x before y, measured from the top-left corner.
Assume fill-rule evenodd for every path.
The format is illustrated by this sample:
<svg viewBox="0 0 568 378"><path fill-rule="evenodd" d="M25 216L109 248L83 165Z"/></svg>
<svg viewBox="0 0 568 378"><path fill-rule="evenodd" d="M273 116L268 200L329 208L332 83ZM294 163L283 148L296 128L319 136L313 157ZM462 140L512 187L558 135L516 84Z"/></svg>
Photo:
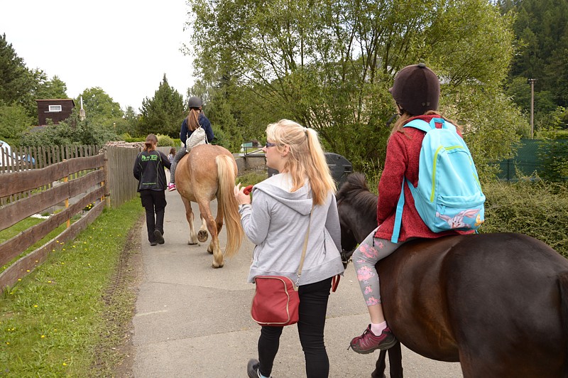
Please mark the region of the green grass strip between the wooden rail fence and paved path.
<svg viewBox="0 0 568 378"><path fill-rule="evenodd" d="M111 348L124 338L119 331L131 320L135 296L119 288L112 301L103 298L127 232L142 213L139 199L105 210L77 239L62 243L48 261L4 291L0 376L111 375L121 360Z"/></svg>

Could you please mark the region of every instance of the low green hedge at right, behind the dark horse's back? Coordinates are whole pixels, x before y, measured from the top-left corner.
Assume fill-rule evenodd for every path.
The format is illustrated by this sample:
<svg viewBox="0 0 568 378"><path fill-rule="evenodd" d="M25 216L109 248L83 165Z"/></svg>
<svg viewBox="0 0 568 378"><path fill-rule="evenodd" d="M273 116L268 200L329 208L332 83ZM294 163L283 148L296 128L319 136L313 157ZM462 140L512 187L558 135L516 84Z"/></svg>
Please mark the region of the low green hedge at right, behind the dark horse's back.
<svg viewBox="0 0 568 378"><path fill-rule="evenodd" d="M568 186L541 180L484 184L485 223L480 232L519 232L568 257Z"/></svg>

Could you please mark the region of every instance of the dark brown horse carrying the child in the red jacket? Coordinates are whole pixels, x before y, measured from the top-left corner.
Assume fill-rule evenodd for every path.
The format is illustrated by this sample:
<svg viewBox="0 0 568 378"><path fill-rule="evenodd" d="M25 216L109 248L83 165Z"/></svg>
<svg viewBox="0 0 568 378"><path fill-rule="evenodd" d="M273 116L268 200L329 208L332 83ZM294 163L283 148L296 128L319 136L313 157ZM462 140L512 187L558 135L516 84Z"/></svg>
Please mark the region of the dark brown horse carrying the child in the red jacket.
<svg viewBox="0 0 568 378"><path fill-rule="evenodd" d="M352 250L376 227L376 195L355 173L337 202ZM514 233L413 239L376 268L385 317L410 350L460 362L466 378L568 377L568 260L546 244Z"/></svg>

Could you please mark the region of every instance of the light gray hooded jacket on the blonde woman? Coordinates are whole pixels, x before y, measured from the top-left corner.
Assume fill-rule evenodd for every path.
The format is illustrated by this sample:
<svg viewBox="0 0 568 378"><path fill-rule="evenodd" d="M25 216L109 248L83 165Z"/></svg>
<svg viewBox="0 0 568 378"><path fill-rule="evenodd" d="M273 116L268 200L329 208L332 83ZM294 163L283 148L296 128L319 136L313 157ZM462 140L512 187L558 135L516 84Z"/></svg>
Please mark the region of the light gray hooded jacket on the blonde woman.
<svg viewBox="0 0 568 378"><path fill-rule="evenodd" d="M297 281L297 269L310 222L312 193L307 182L294 193L290 193L290 188L290 175L273 175L254 186L253 206L239 207L244 232L256 244L249 282L253 282L255 276L288 276ZM343 274L340 249L337 204L333 193L329 193L324 205L315 206L312 212L299 285Z"/></svg>

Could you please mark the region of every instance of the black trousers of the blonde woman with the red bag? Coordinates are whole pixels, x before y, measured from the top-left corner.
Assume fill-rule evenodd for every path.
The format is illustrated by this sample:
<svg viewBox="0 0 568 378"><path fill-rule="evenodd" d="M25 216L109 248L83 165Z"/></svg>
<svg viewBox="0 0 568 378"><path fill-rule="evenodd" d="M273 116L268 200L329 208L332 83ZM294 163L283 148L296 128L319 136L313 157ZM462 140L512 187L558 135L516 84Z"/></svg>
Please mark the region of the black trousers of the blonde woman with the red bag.
<svg viewBox="0 0 568 378"><path fill-rule="evenodd" d="M302 285L298 289L300 296L299 320L297 332L306 360L307 378L327 378L329 375L329 358L324 345L325 314L332 278L315 284ZM270 377L274 358L280 346L280 335L283 327L267 327L261 329L258 338L258 360L260 371L264 377Z"/></svg>

